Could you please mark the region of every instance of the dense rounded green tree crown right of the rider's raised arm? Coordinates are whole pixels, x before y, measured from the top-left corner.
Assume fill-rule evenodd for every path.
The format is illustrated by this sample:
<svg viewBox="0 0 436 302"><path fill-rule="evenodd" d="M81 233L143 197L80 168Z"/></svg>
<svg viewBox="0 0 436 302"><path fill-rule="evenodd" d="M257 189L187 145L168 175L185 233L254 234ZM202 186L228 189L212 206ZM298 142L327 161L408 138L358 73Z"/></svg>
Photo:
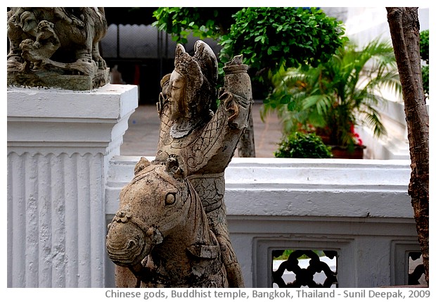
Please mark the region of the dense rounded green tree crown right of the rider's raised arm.
<svg viewBox="0 0 436 302"><path fill-rule="evenodd" d="M326 62L347 40L342 23L317 8L243 8L234 18L221 57L243 54L261 81L283 67Z"/></svg>

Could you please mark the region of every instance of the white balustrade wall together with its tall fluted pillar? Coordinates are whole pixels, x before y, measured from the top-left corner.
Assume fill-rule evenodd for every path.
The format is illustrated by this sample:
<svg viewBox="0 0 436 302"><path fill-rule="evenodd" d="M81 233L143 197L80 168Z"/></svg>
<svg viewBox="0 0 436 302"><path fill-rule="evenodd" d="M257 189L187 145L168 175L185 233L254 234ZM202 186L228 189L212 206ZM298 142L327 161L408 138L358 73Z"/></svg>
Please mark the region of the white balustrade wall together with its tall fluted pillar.
<svg viewBox="0 0 436 302"><path fill-rule="evenodd" d="M137 89L8 88L8 287L113 287L107 222L139 157L119 156ZM339 287L406 284L419 251L408 160L234 158L231 240L247 287L272 251L336 251Z"/></svg>

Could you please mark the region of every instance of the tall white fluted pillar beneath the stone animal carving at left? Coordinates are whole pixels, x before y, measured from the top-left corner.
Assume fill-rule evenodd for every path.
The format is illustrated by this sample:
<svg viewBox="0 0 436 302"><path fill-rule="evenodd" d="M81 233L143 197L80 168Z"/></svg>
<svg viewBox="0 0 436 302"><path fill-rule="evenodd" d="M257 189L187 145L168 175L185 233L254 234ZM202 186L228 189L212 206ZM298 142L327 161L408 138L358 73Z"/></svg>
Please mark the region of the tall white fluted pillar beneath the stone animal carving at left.
<svg viewBox="0 0 436 302"><path fill-rule="evenodd" d="M105 175L137 87L8 89L8 287L103 287Z"/></svg>

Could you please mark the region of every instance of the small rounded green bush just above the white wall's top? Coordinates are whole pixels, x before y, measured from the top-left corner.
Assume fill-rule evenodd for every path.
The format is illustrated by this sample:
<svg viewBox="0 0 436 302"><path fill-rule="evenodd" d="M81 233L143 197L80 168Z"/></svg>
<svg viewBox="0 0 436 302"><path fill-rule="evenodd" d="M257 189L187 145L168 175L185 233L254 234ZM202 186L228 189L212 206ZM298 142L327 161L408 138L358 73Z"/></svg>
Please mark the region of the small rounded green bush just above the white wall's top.
<svg viewBox="0 0 436 302"><path fill-rule="evenodd" d="M331 149L314 133L293 132L278 144L275 157L281 158L331 158Z"/></svg>

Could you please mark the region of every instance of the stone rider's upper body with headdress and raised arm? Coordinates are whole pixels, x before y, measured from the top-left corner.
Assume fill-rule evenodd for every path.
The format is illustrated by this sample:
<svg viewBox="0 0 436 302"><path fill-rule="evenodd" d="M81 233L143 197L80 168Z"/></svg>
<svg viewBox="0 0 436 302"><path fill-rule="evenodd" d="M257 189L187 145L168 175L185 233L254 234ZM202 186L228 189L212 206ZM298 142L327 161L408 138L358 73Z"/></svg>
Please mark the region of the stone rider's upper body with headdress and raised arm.
<svg viewBox="0 0 436 302"><path fill-rule="evenodd" d="M212 113L210 104L217 100L216 58L202 41L196 42L194 49L191 57L178 45L174 71L162 78L155 162L177 153L184 157L188 175L224 172L248 125L252 107L248 66L242 64L242 56L226 63L224 88L218 95L221 103Z"/></svg>

